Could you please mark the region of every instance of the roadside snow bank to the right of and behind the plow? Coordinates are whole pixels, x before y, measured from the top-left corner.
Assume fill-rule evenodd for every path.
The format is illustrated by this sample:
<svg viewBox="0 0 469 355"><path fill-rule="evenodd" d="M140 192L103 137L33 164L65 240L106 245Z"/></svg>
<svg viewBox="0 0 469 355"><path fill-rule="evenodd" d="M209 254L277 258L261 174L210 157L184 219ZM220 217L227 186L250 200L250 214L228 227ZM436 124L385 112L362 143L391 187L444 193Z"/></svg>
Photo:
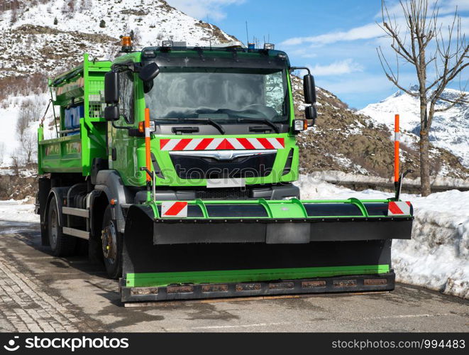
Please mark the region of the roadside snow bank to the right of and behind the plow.
<svg viewBox="0 0 469 355"><path fill-rule="evenodd" d="M389 192L356 192L302 175L302 199L386 199ZM402 194L414 205L411 240L395 240L392 266L397 281L469 299L469 191L451 190L428 197Z"/></svg>

